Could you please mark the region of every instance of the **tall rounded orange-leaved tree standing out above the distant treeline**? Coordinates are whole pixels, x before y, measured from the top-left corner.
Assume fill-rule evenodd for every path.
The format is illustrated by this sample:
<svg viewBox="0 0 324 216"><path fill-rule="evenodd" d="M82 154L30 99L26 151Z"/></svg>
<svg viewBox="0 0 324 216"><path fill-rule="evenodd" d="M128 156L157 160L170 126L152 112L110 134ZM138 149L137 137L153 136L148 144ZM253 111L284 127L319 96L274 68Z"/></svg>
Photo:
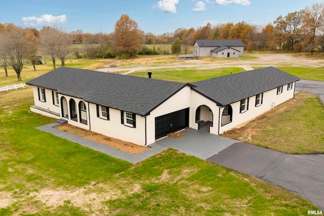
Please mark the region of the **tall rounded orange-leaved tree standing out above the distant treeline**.
<svg viewBox="0 0 324 216"><path fill-rule="evenodd" d="M141 34L137 23L128 15L121 15L115 24L115 45L117 52L126 52L129 58L131 52L141 49Z"/></svg>

